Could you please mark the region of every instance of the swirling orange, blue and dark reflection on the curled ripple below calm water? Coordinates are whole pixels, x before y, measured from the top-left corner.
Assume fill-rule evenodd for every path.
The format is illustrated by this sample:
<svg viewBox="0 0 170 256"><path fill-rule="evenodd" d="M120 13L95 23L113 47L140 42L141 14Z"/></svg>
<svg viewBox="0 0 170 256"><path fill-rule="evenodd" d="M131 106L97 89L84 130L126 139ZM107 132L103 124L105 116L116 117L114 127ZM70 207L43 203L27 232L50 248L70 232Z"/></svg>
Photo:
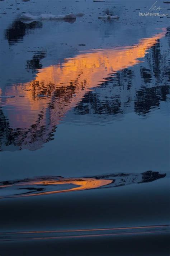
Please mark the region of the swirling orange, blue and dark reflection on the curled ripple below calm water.
<svg viewBox="0 0 170 256"><path fill-rule="evenodd" d="M166 173L108 173L93 177L63 178L44 176L0 182L0 198L31 197L97 188L140 184L164 178Z"/></svg>

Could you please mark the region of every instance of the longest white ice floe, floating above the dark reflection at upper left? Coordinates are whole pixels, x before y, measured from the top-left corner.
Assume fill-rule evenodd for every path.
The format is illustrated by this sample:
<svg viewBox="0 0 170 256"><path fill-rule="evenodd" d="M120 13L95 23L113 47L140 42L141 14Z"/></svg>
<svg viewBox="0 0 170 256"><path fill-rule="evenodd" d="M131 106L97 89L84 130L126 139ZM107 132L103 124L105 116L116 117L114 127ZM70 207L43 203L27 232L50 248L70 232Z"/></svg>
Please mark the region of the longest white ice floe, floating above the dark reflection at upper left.
<svg viewBox="0 0 170 256"><path fill-rule="evenodd" d="M52 14L41 14L41 15L32 15L29 13L24 13L20 19L76 19L74 13L69 13L66 15L52 15Z"/></svg>

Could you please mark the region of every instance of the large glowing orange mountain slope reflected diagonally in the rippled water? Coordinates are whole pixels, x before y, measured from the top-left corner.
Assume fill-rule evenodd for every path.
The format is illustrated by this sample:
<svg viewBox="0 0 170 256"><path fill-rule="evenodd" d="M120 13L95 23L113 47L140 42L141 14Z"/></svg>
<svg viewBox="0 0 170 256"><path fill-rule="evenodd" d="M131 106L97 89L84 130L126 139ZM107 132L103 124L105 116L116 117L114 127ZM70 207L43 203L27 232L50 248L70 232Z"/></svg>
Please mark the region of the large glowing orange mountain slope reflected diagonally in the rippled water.
<svg viewBox="0 0 170 256"><path fill-rule="evenodd" d="M99 86L109 74L140 63L139 59L165 34L163 29L130 47L90 50L39 70L28 83L6 87L0 94L15 97L0 98L0 103L5 107L10 129L17 131L13 144L22 149L40 148L85 93Z"/></svg>

